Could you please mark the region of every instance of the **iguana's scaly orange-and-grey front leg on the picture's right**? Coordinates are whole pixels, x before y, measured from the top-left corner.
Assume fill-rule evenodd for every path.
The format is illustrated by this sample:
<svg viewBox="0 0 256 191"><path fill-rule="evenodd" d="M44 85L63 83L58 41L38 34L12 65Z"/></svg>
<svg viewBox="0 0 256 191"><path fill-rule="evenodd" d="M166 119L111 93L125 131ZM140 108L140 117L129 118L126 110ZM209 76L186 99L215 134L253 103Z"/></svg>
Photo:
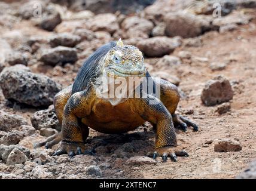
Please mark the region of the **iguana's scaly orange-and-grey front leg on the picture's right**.
<svg viewBox="0 0 256 191"><path fill-rule="evenodd" d="M163 103L151 95L138 98L136 110L139 115L151 124L156 125L156 145L153 158L162 156L165 162L167 156L177 161L176 156L188 156L188 153L177 147L175 129L173 127L172 115Z"/></svg>

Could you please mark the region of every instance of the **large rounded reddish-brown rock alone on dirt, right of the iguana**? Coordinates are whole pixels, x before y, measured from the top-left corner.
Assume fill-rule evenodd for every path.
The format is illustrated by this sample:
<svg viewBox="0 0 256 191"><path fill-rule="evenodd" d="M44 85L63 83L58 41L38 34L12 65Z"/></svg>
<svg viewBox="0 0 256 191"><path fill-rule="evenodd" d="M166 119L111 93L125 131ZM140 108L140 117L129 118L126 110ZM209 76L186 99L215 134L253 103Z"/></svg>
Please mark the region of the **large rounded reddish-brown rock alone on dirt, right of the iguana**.
<svg viewBox="0 0 256 191"><path fill-rule="evenodd" d="M201 93L201 100L206 106L214 106L227 102L233 98L233 90L230 82L224 76L216 76L206 82Z"/></svg>

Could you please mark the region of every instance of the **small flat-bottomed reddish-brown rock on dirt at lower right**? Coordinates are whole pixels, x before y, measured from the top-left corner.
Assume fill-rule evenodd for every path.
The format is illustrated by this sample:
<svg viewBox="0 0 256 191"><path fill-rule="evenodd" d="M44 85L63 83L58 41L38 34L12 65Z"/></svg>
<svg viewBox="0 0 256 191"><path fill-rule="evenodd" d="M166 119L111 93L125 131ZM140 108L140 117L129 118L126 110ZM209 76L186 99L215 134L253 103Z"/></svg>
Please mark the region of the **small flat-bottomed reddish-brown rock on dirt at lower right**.
<svg viewBox="0 0 256 191"><path fill-rule="evenodd" d="M214 144L215 152L234 152L239 150L242 150L241 144L238 141L227 138L217 140L217 143Z"/></svg>

